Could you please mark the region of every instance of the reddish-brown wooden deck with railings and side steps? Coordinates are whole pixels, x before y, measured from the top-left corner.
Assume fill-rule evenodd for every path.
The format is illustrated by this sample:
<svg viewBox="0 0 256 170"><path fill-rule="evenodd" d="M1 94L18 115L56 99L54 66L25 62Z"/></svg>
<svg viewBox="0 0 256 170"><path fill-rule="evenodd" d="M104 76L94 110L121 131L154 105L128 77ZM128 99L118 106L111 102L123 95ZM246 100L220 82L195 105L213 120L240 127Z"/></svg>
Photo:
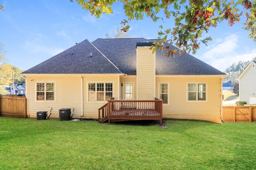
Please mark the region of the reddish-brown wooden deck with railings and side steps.
<svg viewBox="0 0 256 170"><path fill-rule="evenodd" d="M162 125L163 100L108 100L98 109L98 121L160 120Z"/></svg>

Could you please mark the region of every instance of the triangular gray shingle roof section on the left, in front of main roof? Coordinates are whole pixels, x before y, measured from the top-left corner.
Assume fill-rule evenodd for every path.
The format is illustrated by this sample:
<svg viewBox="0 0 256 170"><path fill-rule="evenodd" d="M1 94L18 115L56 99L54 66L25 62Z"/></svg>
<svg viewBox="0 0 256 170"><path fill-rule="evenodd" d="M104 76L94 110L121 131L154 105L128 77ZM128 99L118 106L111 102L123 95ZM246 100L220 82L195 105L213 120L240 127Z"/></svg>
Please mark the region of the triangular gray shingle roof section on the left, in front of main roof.
<svg viewBox="0 0 256 170"><path fill-rule="evenodd" d="M92 56L91 56L92 53ZM72 55L71 55L72 54ZM122 73L87 39L28 69L22 74Z"/></svg>

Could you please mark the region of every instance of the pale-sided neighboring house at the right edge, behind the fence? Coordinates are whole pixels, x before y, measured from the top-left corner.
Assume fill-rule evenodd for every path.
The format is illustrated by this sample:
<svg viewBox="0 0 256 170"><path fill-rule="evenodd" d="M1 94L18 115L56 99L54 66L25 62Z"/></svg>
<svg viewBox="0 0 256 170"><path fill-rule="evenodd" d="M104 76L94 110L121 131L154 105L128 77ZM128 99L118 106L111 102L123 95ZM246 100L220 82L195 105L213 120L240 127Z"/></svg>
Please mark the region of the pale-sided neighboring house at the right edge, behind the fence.
<svg viewBox="0 0 256 170"><path fill-rule="evenodd" d="M256 104L256 61L251 61L238 76L239 100L247 104Z"/></svg>

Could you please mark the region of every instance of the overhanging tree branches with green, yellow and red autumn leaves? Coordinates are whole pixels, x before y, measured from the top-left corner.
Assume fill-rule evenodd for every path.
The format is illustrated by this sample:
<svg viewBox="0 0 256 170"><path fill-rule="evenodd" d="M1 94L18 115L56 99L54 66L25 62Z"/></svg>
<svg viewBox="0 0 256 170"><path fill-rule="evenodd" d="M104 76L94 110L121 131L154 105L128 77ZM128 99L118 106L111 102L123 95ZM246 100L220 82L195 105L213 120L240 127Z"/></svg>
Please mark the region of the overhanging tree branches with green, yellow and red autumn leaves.
<svg viewBox="0 0 256 170"><path fill-rule="evenodd" d="M70 0L73 2L73 0ZM92 15L100 17L102 13L113 13L111 6L117 0L76 0L79 5L90 11ZM210 27L217 27L218 24L227 21L232 26L239 22L242 17L247 19L245 29L252 31L249 36L255 40L256 0L119 0L123 4L123 9L127 20L123 24L122 31L126 32L129 28L130 20L142 20L149 17L153 22L173 19L174 27L163 29L160 24L156 47L152 46L153 52L156 49L167 49L166 56L174 55L181 51L171 50L164 42L169 42L184 52L195 54L200 44L207 45L211 37L201 39L203 33L207 33ZM160 23L160 22L158 22Z"/></svg>

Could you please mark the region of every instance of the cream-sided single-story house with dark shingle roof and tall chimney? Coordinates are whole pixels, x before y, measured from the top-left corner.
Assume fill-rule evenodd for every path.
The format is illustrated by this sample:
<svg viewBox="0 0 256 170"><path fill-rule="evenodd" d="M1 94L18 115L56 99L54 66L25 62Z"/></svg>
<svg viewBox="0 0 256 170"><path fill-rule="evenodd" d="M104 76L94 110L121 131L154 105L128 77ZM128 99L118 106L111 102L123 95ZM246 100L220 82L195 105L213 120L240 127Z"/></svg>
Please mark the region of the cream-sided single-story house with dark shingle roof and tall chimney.
<svg viewBox="0 0 256 170"><path fill-rule="evenodd" d="M225 73L182 52L152 54L154 40L84 40L22 72L26 76L27 114L47 110L58 117L72 108L74 118L98 118L107 100L163 99L163 118L221 123ZM170 45L165 43L165 45ZM170 45L170 49L177 49Z"/></svg>

